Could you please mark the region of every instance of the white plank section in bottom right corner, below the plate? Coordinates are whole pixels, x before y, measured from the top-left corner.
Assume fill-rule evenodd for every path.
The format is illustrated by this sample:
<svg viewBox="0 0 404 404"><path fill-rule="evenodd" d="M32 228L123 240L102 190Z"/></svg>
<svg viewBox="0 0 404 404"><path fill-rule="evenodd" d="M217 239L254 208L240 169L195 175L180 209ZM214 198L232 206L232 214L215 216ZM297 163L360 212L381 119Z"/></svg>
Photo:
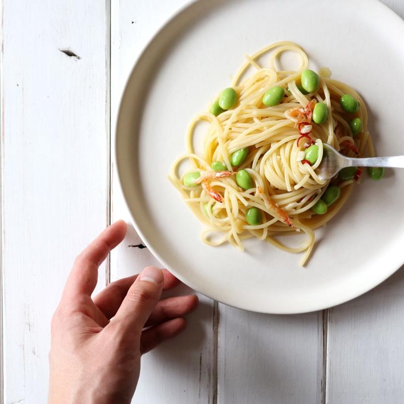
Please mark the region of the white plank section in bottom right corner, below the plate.
<svg viewBox="0 0 404 404"><path fill-rule="evenodd" d="M404 397L404 268L329 311L327 403L388 404Z"/></svg>

